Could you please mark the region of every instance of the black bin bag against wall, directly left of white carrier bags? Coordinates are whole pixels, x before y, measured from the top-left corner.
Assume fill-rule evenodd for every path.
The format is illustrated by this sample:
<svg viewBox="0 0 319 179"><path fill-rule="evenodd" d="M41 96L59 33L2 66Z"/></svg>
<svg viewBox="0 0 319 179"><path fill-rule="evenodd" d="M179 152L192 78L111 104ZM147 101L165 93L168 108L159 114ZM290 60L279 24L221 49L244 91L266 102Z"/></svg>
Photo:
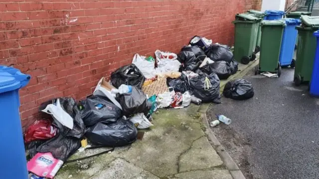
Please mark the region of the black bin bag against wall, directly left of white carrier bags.
<svg viewBox="0 0 319 179"><path fill-rule="evenodd" d="M145 80L145 76L135 64L122 66L111 73L111 82L116 88L119 88L122 84L126 84L142 89Z"/></svg>

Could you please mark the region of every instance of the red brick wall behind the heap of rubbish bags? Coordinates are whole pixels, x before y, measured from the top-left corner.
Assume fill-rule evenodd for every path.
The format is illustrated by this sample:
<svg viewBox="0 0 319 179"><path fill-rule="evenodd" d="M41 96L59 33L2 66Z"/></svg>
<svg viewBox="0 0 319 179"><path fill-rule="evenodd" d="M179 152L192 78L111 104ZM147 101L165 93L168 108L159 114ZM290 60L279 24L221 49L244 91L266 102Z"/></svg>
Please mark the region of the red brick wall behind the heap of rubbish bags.
<svg viewBox="0 0 319 179"><path fill-rule="evenodd" d="M32 75L20 90L22 126L41 118L44 101L85 98L135 53L177 53L193 35L231 45L235 13L260 6L261 0L0 0L1 65Z"/></svg>

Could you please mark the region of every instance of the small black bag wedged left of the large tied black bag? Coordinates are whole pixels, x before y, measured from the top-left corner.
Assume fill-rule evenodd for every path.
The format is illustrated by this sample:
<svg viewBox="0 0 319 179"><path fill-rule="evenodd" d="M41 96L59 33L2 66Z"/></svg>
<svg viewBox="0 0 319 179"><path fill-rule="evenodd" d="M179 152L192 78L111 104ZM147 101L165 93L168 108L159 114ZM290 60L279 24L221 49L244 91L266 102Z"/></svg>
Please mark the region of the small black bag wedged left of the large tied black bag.
<svg viewBox="0 0 319 179"><path fill-rule="evenodd" d="M190 90L187 76L184 73L181 73L178 78L166 78L166 84L168 87L172 87L175 92L180 92L182 94Z"/></svg>

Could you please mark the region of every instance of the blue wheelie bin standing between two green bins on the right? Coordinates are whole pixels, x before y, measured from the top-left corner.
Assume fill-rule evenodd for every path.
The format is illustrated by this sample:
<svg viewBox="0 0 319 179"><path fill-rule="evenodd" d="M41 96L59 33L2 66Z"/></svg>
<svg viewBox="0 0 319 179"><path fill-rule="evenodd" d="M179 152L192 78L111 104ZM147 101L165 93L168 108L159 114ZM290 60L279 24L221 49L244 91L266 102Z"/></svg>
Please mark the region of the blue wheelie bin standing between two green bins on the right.
<svg viewBox="0 0 319 179"><path fill-rule="evenodd" d="M284 29L283 39L281 42L279 62L281 66L290 65L293 68L296 64L296 60L293 59L298 35L296 26L301 24L301 20L295 18L283 18L282 20L286 21L287 26Z"/></svg>

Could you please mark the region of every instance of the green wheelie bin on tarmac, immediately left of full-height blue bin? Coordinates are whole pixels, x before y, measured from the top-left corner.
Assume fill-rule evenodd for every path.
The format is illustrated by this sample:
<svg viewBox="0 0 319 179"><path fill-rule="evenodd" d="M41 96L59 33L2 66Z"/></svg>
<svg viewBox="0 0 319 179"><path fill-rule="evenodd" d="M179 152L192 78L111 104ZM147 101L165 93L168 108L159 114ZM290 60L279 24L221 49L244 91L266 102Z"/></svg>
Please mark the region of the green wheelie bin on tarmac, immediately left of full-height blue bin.
<svg viewBox="0 0 319 179"><path fill-rule="evenodd" d="M281 75L279 63L281 42L286 22L284 20L263 20L261 22L261 46L259 65L255 67L255 75L260 72Z"/></svg>

